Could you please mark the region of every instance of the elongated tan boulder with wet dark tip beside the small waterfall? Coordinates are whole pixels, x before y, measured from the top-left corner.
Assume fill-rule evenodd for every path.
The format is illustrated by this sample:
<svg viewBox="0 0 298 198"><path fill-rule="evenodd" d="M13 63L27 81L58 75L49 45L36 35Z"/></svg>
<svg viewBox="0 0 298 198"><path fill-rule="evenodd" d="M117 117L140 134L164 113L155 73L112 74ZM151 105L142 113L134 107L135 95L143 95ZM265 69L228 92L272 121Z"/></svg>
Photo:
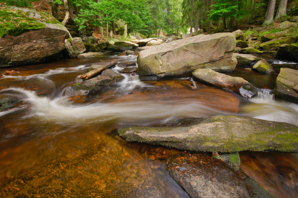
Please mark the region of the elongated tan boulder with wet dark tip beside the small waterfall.
<svg viewBox="0 0 298 198"><path fill-rule="evenodd" d="M231 77L213 71L212 69L196 69L193 71L193 76L202 82L233 91L247 99L250 99L257 94L257 88L243 78Z"/></svg>

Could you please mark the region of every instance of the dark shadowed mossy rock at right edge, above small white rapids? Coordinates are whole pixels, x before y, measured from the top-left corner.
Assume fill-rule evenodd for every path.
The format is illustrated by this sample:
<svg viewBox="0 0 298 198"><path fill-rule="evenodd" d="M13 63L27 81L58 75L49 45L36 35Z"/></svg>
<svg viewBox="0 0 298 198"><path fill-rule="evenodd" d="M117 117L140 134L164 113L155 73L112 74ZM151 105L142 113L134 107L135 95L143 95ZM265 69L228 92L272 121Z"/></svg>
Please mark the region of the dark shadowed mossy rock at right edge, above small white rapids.
<svg viewBox="0 0 298 198"><path fill-rule="evenodd" d="M279 46L277 50L277 57L287 58L298 62L298 43L292 45L284 44Z"/></svg>

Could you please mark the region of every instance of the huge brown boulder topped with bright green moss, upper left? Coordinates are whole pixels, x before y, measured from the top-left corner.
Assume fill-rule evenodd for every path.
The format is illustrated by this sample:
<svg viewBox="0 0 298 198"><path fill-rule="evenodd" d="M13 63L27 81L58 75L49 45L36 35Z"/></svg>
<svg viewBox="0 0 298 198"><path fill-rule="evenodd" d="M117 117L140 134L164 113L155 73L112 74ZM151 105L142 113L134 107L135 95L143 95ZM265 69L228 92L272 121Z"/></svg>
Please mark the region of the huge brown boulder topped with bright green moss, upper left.
<svg viewBox="0 0 298 198"><path fill-rule="evenodd" d="M6 12L0 16L0 67L40 63L65 49L69 32L52 16L19 7L0 11Z"/></svg>

